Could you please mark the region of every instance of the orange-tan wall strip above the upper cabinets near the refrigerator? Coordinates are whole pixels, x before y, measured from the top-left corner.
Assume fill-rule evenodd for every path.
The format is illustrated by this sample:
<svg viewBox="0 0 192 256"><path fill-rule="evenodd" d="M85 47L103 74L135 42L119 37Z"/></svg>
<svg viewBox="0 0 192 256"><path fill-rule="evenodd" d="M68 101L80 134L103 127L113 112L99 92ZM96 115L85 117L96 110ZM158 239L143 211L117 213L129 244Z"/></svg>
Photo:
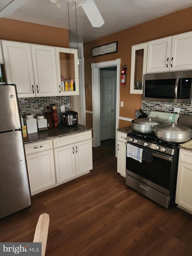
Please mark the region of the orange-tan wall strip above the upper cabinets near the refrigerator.
<svg viewBox="0 0 192 256"><path fill-rule="evenodd" d="M69 47L68 29L60 29L35 23L0 18L0 39Z"/></svg>

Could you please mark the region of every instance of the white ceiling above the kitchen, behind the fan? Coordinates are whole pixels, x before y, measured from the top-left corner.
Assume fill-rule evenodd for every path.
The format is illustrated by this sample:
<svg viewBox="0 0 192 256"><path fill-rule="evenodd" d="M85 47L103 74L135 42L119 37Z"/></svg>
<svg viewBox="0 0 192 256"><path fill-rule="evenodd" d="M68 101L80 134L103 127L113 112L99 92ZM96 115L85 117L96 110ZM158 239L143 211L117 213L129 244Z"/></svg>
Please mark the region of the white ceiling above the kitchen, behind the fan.
<svg viewBox="0 0 192 256"><path fill-rule="evenodd" d="M13 0L1 0L0 10ZM143 22L192 6L192 0L94 0L105 24L93 28L83 9L76 10L78 43L92 41ZM72 3L69 3L69 22L66 0L60 0L61 8L50 0L26 0L9 16L47 26L69 29L70 41L76 43L76 19ZM69 23L69 24L68 24ZM51 36L51 35L50 35Z"/></svg>

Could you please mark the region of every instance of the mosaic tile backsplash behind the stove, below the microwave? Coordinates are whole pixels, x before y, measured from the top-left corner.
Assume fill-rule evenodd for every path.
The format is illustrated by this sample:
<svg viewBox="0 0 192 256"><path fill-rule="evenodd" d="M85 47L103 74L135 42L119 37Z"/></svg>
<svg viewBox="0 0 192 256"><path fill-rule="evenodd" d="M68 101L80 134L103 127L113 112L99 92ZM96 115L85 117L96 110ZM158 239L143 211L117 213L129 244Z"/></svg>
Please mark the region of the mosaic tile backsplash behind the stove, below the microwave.
<svg viewBox="0 0 192 256"><path fill-rule="evenodd" d="M142 101L142 110L146 114L150 111L165 111L174 112L174 107L179 107L179 114L192 115L191 104L169 103L169 102L156 102L156 101Z"/></svg>

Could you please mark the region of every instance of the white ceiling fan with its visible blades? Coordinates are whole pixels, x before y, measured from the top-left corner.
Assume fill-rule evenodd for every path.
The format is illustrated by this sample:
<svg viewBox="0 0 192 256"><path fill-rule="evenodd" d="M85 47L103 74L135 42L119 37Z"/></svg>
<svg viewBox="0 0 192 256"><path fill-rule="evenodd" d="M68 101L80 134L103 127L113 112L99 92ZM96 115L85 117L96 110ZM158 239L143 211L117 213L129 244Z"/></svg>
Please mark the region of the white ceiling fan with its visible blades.
<svg viewBox="0 0 192 256"><path fill-rule="evenodd" d="M21 5L23 5L27 0L10 0L9 4L7 4L1 11L0 17L7 17L9 14L13 13L16 9L18 9ZM57 4L58 7L61 7L59 0L50 0L52 3ZM76 2L76 8L82 7L83 11L87 15L91 25L93 27L101 27L105 22L95 5L94 0L66 0L67 2L73 3L73 8Z"/></svg>

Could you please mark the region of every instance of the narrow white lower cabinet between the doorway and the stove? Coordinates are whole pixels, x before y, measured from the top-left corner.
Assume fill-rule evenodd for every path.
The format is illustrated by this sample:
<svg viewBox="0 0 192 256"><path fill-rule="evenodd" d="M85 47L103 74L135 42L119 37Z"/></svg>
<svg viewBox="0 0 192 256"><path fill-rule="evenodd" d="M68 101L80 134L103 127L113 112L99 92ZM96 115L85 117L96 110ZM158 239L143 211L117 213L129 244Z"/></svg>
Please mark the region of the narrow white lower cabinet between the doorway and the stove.
<svg viewBox="0 0 192 256"><path fill-rule="evenodd" d="M117 133L117 172L125 177L126 169L126 137L127 134L123 132Z"/></svg>

